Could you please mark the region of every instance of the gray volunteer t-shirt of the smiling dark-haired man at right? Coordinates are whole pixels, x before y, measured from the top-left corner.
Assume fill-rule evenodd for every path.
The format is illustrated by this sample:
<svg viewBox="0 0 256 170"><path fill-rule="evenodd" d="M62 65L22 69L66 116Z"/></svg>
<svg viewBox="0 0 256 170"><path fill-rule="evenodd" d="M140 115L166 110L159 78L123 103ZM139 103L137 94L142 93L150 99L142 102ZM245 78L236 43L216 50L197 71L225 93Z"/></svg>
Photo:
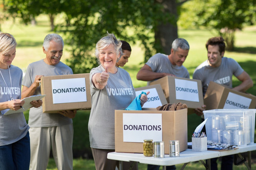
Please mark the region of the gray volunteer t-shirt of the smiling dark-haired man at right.
<svg viewBox="0 0 256 170"><path fill-rule="evenodd" d="M201 80L204 96L210 81L232 88L232 76L239 76L243 71L237 61L223 57L220 66L217 68L210 67L208 60L201 63L195 69L193 79Z"/></svg>

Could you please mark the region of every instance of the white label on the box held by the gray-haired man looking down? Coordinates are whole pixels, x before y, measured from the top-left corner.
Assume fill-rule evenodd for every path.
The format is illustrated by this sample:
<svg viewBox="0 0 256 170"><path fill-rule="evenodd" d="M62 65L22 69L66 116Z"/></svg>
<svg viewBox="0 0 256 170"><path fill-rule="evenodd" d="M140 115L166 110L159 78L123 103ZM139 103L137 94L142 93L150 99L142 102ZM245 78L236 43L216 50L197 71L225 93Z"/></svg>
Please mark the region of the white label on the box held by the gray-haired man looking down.
<svg viewBox="0 0 256 170"><path fill-rule="evenodd" d="M196 81L175 78L175 92L177 100L199 102L198 86ZM170 92L170 95L172 92Z"/></svg>

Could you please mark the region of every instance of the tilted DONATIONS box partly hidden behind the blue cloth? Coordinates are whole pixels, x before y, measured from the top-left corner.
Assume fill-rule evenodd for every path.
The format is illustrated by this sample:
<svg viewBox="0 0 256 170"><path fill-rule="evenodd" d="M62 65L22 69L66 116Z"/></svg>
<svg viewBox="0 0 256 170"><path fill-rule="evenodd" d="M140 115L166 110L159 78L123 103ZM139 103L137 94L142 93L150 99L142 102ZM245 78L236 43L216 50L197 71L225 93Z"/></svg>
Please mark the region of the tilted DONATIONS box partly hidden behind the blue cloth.
<svg viewBox="0 0 256 170"><path fill-rule="evenodd" d="M161 85L149 85L146 87L139 87L135 89L136 96L141 94L141 92L150 92L147 95L147 101L143 105L142 108L157 108L158 106L162 106L167 104L167 101L165 99L165 94L163 92L163 89Z"/></svg>

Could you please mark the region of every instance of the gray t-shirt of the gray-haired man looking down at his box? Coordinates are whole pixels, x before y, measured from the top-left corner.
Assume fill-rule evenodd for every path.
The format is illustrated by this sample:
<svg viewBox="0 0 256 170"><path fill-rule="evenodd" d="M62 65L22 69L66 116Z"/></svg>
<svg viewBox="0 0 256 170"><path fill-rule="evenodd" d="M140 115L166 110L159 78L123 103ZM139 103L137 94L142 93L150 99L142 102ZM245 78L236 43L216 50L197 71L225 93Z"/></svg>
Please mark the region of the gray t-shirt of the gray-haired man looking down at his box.
<svg viewBox="0 0 256 170"><path fill-rule="evenodd" d="M190 78L187 68L184 66L174 66L168 59L168 55L157 53L154 56L150 57L146 62L153 72L156 73L169 73L177 77ZM147 85L152 81L147 82Z"/></svg>

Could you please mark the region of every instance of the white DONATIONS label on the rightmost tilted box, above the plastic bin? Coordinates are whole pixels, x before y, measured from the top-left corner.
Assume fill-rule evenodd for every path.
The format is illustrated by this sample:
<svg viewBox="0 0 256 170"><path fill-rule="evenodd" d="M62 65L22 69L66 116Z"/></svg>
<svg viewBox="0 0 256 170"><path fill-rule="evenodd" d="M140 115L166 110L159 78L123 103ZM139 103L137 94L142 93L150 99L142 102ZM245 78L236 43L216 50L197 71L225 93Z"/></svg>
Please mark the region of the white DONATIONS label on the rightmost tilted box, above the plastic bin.
<svg viewBox="0 0 256 170"><path fill-rule="evenodd" d="M251 102L252 99L229 92L223 109L249 109Z"/></svg>

